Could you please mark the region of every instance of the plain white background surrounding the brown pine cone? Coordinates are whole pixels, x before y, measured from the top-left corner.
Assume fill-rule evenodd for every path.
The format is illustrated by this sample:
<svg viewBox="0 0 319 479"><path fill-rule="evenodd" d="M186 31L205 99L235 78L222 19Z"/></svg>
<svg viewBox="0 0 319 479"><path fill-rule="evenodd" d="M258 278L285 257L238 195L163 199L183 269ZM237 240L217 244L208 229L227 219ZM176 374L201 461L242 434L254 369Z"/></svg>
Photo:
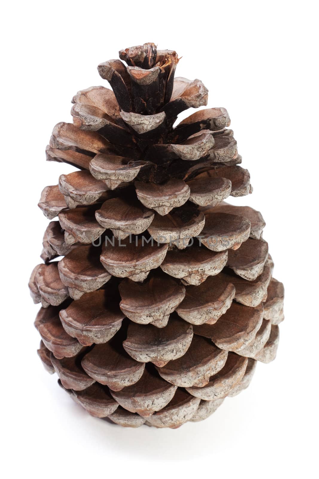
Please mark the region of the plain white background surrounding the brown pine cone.
<svg viewBox="0 0 319 479"><path fill-rule="evenodd" d="M6 2L2 7L1 407L5 477L314 477L318 424L318 52L315 2L142 0ZM317 17L318 18L318 17ZM204 422L177 430L121 428L90 417L41 365L27 288L46 218L41 190L62 163L45 162L72 96L106 82L97 65L153 41L183 57L223 106L285 283L275 362ZM317 77L317 78L316 78ZM191 112L187 111L184 116ZM3 191L4 189L4 191ZM3 450L2 450L3 451ZM2 464L2 468L4 464ZM89 476L90 475L90 476Z"/></svg>

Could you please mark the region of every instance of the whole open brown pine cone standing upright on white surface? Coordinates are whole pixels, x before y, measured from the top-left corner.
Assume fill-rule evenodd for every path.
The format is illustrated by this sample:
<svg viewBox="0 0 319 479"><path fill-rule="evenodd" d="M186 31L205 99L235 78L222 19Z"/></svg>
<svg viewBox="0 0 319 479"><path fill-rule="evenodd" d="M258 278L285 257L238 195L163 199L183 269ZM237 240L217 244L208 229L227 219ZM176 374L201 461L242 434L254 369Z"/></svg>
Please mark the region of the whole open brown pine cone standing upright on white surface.
<svg viewBox="0 0 319 479"><path fill-rule="evenodd" d="M224 108L175 78L153 43L101 63L103 86L73 98L47 160L77 171L44 188L53 220L30 278L49 373L90 414L176 428L207 418L275 358L284 288ZM52 261L64 256L60 261Z"/></svg>

